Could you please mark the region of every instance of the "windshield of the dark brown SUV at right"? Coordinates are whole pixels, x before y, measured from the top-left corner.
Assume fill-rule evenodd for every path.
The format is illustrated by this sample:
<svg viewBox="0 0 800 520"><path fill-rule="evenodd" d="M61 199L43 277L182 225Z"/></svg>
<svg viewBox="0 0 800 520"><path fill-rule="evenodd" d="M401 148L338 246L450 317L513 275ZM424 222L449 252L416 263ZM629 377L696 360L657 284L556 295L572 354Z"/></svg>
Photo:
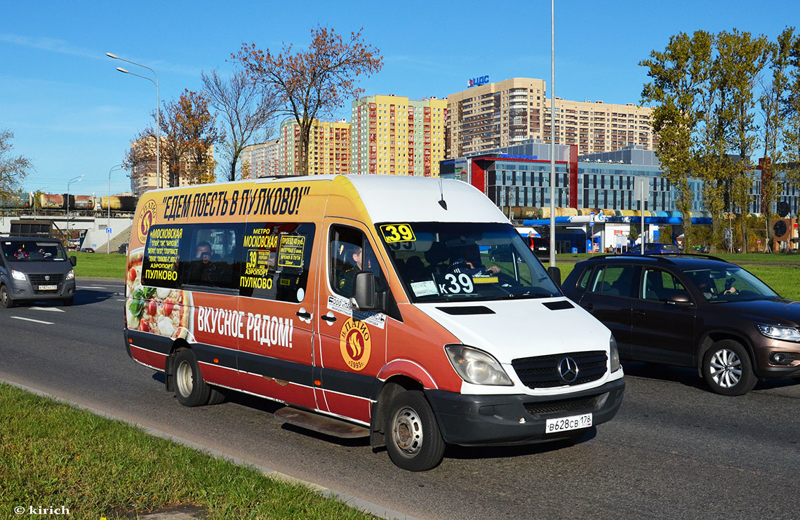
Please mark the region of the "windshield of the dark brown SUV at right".
<svg viewBox="0 0 800 520"><path fill-rule="evenodd" d="M684 271L709 302L776 299L780 296L739 266Z"/></svg>

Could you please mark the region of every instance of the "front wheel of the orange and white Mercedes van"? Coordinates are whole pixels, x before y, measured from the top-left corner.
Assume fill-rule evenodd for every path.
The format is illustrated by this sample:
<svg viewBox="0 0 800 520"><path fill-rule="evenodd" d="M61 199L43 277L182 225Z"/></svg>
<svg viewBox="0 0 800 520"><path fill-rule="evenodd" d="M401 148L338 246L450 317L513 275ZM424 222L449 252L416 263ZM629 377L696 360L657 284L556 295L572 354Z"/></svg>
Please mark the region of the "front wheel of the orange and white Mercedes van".
<svg viewBox="0 0 800 520"><path fill-rule="evenodd" d="M418 390L397 394L386 416L386 450L395 465L408 471L438 466L445 442L425 395Z"/></svg>

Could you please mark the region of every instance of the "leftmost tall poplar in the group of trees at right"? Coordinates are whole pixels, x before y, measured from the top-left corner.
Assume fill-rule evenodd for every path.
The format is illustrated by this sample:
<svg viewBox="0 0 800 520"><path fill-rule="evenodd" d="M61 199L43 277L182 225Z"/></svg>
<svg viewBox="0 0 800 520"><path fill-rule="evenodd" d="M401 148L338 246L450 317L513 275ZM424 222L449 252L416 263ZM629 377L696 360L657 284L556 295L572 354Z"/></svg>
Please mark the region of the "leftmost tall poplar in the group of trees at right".
<svg viewBox="0 0 800 520"><path fill-rule="evenodd" d="M690 37L680 33L670 37L663 52L650 53L639 65L648 69L651 81L642 90L642 102L655 103L653 130L658 134L655 153L664 176L677 192L675 206L683 214L686 248L690 248L693 194L689 180L696 164L693 136L701 114L698 93L706 79L702 56L708 46L708 34L698 31Z"/></svg>

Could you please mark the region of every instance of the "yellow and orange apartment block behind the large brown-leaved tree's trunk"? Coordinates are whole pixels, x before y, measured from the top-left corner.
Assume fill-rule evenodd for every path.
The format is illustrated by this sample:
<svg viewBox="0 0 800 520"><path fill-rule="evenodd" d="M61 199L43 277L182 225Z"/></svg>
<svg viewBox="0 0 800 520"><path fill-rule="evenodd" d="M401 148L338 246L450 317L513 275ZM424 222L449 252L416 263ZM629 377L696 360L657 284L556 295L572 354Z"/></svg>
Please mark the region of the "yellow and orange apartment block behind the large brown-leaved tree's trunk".
<svg viewBox="0 0 800 520"><path fill-rule="evenodd" d="M300 126L294 118L281 123L278 175L301 175ZM308 174L350 173L350 123L314 119L308 145Z"/></svg>

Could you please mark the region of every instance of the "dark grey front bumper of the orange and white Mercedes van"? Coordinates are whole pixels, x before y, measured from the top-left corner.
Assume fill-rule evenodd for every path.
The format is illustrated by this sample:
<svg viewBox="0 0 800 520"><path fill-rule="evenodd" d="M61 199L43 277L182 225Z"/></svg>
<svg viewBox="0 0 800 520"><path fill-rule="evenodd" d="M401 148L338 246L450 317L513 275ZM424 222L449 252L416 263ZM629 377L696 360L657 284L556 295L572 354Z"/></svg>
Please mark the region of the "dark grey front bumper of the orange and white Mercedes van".
<svg viewBox="0 0 800 520"><path fill-rule="evenodd" d="M557 441L580 430L546 434L547 419L592 413L592 426L617 414L625 392L622 378L574 394L531 396L464 395L425 390L445 442L502 446Z"/></svg>

